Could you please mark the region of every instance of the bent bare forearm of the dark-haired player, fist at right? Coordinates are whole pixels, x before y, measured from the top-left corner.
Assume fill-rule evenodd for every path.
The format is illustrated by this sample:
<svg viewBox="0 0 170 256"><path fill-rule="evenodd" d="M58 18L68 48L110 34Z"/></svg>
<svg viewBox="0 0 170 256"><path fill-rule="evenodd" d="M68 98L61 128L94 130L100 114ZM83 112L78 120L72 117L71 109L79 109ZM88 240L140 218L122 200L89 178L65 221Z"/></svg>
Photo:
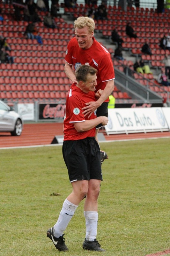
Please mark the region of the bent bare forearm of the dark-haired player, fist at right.
<svg viewBox="0 0 170 256"><path fill-rule="evenodd" d="M91 120L85 120L84 122L76 122L74 123L74 128L77 132L85 132L96 127L98 124L106 125L107 122L108 118L106 116L98 116Z"/></svg>

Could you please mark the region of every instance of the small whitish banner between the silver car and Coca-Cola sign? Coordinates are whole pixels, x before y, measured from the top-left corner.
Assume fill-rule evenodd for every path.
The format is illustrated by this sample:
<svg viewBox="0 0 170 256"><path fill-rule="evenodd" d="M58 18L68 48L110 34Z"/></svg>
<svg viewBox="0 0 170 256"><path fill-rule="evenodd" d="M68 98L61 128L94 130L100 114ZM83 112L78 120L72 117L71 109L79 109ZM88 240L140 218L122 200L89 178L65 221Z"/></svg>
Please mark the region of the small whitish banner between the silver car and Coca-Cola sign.
<svg viewBox="0 0 170 256"><path fill-rule="evenodd" d="M35 120L33 103L18 103L17 112L24 121Z"/></svg>

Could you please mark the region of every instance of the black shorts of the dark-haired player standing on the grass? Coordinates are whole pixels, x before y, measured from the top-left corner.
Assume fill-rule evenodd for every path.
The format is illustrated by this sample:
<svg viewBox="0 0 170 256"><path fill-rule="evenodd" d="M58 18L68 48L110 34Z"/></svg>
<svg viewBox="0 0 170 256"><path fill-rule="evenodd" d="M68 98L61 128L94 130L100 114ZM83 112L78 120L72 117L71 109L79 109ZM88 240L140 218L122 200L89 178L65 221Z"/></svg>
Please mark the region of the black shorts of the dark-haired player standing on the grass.
<svg viewBox="0 0 170 256"><path fill-rule="evenodd" d="M70 182L102 180L100 147L93 137L83 140L64 140L63 158Z"/></svg>

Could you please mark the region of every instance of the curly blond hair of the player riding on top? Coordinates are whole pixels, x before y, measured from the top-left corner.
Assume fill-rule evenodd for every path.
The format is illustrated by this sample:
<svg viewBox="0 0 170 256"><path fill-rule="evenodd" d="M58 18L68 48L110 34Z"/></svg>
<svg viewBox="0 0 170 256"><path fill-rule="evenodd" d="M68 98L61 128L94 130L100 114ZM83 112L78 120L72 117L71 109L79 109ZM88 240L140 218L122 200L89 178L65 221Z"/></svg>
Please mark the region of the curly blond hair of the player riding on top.
<svg viewBox="0 0 170 256"><path fill-rule="evenodd" d="M74 21L74 28L88 28L89 33L94 32L95 23L92 18L89 17L78 17L77 20Z"/></svg>

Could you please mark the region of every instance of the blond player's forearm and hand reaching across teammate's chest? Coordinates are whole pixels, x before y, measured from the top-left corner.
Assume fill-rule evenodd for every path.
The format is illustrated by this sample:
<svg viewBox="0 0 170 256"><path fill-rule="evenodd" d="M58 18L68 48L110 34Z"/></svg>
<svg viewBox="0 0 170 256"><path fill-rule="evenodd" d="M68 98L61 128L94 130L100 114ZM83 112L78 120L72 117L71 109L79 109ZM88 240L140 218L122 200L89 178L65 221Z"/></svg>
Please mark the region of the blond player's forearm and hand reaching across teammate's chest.
<svg viewBox="0 0 170 256"><path fill-rule="evenodd" d="M92 113L100 107L100 105L110 96L110 94L114 90L114 79L107 81L106 87L103 90L102 94L100 95L100 98L97 101L90 101L88 103L85 103L87 107L82 108L84 116L89 115L88 118L92 115ZM96 97L99 97L96 95Z"/></svg>

